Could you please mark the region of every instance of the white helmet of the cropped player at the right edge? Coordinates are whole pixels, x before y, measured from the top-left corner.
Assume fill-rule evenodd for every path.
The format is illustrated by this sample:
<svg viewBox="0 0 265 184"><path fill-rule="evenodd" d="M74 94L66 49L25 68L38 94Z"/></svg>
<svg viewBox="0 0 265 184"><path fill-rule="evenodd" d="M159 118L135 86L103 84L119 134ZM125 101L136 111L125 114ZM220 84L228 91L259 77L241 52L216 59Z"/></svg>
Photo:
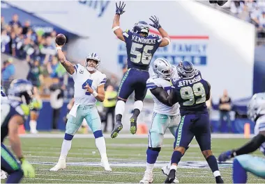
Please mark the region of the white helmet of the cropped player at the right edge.
<svg viewBox="0 0 265 184"><path fill-rule="evenodd" d="M265 92L254 94L248 103L248 118L255 122L259 115L265 115Z"/></svg>

